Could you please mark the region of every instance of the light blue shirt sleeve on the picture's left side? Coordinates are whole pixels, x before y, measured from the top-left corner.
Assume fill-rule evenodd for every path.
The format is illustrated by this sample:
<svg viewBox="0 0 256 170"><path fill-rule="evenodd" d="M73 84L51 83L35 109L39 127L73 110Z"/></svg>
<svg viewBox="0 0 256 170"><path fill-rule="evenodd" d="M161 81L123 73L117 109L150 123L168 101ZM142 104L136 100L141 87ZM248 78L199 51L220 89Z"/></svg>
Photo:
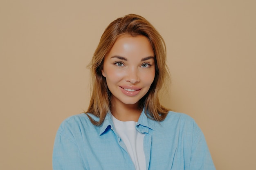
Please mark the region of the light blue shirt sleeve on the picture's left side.
<svg viewBox="0 0 256 170"><path fill-rule="evenodd" d="M54 141L52 165L53 170L86 170L76 141L61 127Z"/></svg>

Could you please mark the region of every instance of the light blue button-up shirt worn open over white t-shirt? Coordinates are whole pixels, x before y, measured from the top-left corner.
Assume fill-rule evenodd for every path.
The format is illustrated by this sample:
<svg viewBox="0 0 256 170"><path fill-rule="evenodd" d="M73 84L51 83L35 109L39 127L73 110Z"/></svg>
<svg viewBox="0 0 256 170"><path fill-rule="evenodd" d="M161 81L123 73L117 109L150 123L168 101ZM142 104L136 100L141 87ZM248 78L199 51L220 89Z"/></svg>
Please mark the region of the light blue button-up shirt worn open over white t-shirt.
<svg viewBox="0 0 256 170"><path fill-rule="evenodd" d="M204 135L188 115L170 111L158 122L143 111L136 130L145 133L147 170L215 170ZM101 126L94 126L87 115L80 114L67 118L58 129L53 169L135 170L135 166L110 113Z"/></svg>

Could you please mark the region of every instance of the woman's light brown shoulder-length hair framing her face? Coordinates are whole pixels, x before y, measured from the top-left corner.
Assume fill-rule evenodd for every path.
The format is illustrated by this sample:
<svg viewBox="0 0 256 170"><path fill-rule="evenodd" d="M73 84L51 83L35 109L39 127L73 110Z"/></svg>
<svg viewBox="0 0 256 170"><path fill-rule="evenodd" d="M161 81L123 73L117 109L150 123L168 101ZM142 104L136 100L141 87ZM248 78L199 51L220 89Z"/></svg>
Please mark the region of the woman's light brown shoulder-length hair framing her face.
<svg viewBox="0 0 256 170"><path fill-rule="evenodd" d="M101 125L110 110L111 93L108 89L106 78L102 75L105 55L110 51L117 38L121 35L131 36L143 35L148 38L155 54L155 78L148 93L139 100L140 109L144 108L147 117L156 121L163 121L168 113L168 109L159 102L159 91L165 80L169 80L169 72L166 66L166 45L158 31L140 15L129 14L122 18L117 18L111 22L103 32L99 45L94 52L90 68L92 73L92 92L87 113L92 113L99 117L95 121L90 116L90 121L94 125Z"/></svg>

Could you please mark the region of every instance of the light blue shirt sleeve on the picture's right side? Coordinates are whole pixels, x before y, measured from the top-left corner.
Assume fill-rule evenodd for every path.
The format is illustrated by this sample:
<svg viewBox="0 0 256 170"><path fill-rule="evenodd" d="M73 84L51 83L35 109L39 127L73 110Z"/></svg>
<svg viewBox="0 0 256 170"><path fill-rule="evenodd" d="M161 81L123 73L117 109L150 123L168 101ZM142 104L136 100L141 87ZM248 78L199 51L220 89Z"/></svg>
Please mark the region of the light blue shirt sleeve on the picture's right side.
<svg viewBox="0 0 256 170"><path fill-rule="evenodd" d="M195 122L189 170L216 170L204 134Z"/></svg>

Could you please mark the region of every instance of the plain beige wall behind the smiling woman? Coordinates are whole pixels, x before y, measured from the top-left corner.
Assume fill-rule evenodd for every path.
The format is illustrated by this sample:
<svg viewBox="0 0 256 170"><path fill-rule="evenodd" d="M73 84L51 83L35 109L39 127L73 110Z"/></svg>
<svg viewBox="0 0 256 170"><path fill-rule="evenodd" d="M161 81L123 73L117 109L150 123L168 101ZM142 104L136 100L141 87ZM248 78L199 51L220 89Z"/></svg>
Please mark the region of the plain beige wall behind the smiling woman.
<svg viewBox="0 0 256 170"><path fill-rule="evenodd" d="M256 167L254 0L0 0L0 169L52 169L58 126L86 110L106 26L137 13L166 40L164 105L195 119L218 170Z"/></svg>

